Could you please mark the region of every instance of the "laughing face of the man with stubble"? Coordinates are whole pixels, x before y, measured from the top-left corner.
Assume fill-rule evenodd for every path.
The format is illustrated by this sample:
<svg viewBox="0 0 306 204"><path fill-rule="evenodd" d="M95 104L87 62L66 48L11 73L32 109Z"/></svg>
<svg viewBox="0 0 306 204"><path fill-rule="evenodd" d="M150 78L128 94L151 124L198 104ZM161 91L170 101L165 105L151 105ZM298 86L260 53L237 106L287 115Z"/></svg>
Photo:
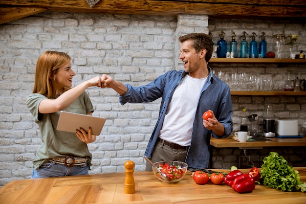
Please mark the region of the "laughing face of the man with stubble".
<svg viewBox="0 0 306 204"><path fill-rule="evenodd" d="M190 76L194 72L198 72L199 69L202 70L203 63L205 62L204 55L206 49L202 49L199 52L192 46L193 40L186 40L182 43L180 49L179 59L184 62L185 72L188 72Z"/></svg>

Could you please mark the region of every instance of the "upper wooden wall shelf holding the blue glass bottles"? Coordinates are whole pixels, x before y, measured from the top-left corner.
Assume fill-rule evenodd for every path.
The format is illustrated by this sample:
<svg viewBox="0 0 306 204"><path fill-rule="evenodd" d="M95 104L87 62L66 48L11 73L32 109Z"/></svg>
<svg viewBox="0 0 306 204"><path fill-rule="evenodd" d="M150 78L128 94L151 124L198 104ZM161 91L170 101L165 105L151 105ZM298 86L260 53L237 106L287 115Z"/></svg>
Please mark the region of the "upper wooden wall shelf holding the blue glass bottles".
<svg viewBox="0 0 306 204"><path fill-rule="evenodd" d="M209 63L306 63L306 59L211 58Z"/></svg>

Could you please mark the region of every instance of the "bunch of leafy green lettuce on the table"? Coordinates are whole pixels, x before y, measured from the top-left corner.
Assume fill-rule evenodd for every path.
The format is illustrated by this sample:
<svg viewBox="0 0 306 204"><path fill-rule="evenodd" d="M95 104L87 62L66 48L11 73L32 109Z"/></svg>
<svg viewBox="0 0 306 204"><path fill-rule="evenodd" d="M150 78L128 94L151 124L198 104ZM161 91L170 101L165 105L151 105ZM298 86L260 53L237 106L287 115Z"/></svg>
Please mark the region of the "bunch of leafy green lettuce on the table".
<svg viewBox="0 0 306 204"><path fill-rule="evenodd" d="M276 152L270 152L263 159L261 183L267 187L282 191L306 192L306 182L302 183L297 170L288 165L288 162Z"/></svg>

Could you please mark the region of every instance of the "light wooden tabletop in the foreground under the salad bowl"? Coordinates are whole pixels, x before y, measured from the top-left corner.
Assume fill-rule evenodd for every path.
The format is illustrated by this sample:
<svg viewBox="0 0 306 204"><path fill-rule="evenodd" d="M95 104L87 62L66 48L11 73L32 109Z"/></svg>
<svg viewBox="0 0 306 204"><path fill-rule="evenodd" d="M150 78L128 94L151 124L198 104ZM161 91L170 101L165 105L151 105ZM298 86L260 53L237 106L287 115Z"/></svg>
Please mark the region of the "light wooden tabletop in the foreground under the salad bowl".
<svg viewBox="0 0 306 204"><path fill-rule="evenodd" d="M297 167L306 181L306 167ZM224 172L226 170L223 170ZM248 172L249 169L242 170ZM239 194L226 184L196 184L191 172L164 183L153 172L134 172L135 193L124 193L125 173L11 181L0 188L0 204L305 204L306 193L256 185Z"/></svg>

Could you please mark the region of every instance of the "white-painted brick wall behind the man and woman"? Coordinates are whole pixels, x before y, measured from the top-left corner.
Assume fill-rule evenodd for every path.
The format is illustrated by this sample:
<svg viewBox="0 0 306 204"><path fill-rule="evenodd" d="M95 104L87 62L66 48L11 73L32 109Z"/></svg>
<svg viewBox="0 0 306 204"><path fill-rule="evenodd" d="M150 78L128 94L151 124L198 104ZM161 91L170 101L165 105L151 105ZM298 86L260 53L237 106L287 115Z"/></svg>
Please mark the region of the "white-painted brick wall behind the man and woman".
<svg viewBox="0 0 306 204"><path fill-rule="evenodd" d="M107 73L123 83L139 86L168 70L182 68L178 59L179 35L208 33L209 29L216 41L217 33L223 30L228 34L226 40L229 43L228 36L233 29L242 32L246 28L250 34L255 29L272 32L273 29L289 26L290 30L301 35L301 45L297 49L306 49L305 24L294 25L264 21L233 23L230 20L209 23L207 16L195 15L171 17L52 12L1 24L0 186L16 179L28 179L32 173L30 166L41 140L25 99L33 89L37 59L45 50L64 51L72 57L72 67L76 72L74 85ZM235 30L237 35L238 30ZM218 65L218 69L242 70L243 67ZM282 70L285 69L288 68ZM262 65L252 72L268 70L269 66ZM273 73L277 72L273 70ZM306 78L305 69L303 77ZM280 79L283 80L284 76L280 75ZM115 91L98 88L87 91L94 105L93 115L108 118L102 134L88 145L93 155L90 174L122 172L124 162L130 159L136 164L135 171L143 171L145 161L142 155L158 116L160 100L121 106ZM266 101L280 104L275 109L280 116L290 112L293 118L303 117L300 124L306 120L305 97L233 96L235 129L242 106L262 113Z"/></svg>

